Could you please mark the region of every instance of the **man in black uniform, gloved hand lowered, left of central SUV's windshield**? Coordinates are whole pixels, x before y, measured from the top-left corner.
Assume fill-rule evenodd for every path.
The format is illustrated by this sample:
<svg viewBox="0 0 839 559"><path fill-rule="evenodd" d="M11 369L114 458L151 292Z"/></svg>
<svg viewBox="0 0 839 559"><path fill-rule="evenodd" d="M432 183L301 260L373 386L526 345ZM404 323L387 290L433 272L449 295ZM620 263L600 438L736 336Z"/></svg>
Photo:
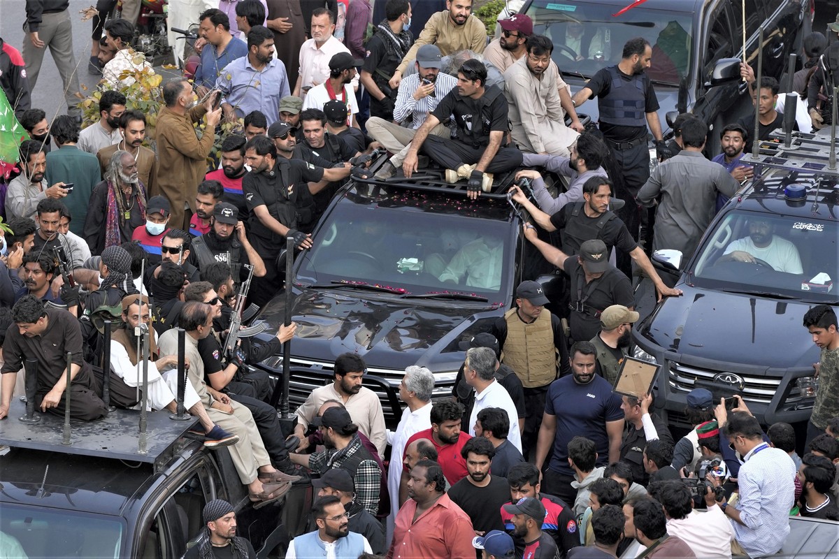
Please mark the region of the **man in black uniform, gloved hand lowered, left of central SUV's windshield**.
<svg viewBox="0 0 839 559"><path fill-rule="evenodd" d="M256 277L249 297L260 307L277 291L279 273L276 259L293 237L294 246L312 246L311 236L297 230L297 203L307 183L319 182L323 169L298 159L277 158L277 147L268 136L256 136L245 145L245 162L251 172L242 179L242 192L248 204L253 248L268 262L263 277Z"/></svg>

